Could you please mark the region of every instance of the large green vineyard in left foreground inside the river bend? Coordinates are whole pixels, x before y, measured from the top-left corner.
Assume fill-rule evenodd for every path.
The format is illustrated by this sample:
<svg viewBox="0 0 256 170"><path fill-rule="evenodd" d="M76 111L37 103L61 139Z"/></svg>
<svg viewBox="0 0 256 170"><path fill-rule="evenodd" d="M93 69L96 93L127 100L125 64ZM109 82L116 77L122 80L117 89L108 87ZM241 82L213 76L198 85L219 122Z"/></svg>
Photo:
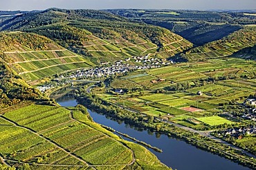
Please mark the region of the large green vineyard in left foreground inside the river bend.
<svg viewBox="0 0 256 170"><path fill-rule="evenodd" d="M78 110L30 105L7 112L0 123L0 151L10 164L124 169L135 163L136 154L127 147L134 144L120 140Z"/></svg>

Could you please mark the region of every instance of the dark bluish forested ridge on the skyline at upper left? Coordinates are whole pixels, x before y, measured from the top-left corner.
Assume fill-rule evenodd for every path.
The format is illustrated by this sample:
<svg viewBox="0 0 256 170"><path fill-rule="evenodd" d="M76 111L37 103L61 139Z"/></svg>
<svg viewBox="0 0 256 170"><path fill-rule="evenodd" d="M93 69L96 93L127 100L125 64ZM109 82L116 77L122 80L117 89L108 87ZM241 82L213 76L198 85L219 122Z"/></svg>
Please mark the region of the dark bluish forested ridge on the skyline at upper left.
<svg viewBox="0 0 256 170"><path fill-rule="evenodd" d="M9 19L0 24L1 30L26 30L42 25L49 25L73 19L108 19L122 21L123 17L118 17L109 12L98 10L62 10L50 8L44 11L24 12L17 17Z"/></svg>

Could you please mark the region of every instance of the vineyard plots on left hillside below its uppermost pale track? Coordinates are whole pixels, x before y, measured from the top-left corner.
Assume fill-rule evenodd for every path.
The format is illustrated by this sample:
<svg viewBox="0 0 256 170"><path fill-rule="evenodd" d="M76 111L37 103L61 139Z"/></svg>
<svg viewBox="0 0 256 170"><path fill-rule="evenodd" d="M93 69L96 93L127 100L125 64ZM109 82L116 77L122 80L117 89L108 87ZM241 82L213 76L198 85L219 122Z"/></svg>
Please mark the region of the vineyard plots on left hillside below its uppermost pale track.
<svg viewBox="0 0 256 170"><path fill-rule="evenodd" d="M7 53L8 65L27 81L94 64L68 50ZM8 58L7 57L7 58Z"/></svg>

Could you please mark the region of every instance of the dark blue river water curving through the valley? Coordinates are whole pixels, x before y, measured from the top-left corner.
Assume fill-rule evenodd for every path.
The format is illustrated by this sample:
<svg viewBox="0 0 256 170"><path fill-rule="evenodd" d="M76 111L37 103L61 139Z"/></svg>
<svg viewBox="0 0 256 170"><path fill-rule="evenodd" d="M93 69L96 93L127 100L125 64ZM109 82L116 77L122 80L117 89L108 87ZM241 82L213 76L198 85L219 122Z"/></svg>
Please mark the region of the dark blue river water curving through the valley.
<svg viewBox="0 0 256 170"><path fill-rule="evenodd" d="M67 98L66 100L56 100L57 103L64 107L75 106L77 102L73 98ZM111 120L106 118L106 116L97 114L94 111L88 110L89 114L96 123L106 125L120 131L123 134L128 134L129 136L142 140L152 145L153 147L158 147L162 149L163 152L159 153L153 149L149 149L154 153L161 162L166 164L172 169L178 170L248 170L247 167L243 167L231 160L222 158L220 156L214 155L208 151L203 151L189 145L188 143L177 140L176 138L170 138L166 135L156 134L146 129L139 129L127 125L122 121ZM129 140L125 138L126 140Z"/></svg>

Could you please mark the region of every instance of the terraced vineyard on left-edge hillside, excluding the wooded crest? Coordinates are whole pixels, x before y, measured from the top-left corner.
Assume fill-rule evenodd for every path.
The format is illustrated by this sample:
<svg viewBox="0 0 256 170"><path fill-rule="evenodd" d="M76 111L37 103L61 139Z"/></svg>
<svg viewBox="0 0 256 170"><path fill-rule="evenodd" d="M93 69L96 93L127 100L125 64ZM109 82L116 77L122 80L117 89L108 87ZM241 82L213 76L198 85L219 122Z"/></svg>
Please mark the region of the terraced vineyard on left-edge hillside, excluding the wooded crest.
<svg viewBox="0 0 256 170"><path fill-rule="evenodd" d="M16 37L16 39L25 39L25 36L30 36L30 34L13 33L11 36ZM37 38L42 42L46 39L40 36ZM5 51L3 47L1 51L3 51L3 59L6 63L17 74L25 78L26 81L36 81L40 78L53 76L64 71L94 65L89 59L63 49L53 42L51 43L46 48L47 50L30 49L21 42L18 44L10 43L7 45L7 49L12 51Z"/></svg>

